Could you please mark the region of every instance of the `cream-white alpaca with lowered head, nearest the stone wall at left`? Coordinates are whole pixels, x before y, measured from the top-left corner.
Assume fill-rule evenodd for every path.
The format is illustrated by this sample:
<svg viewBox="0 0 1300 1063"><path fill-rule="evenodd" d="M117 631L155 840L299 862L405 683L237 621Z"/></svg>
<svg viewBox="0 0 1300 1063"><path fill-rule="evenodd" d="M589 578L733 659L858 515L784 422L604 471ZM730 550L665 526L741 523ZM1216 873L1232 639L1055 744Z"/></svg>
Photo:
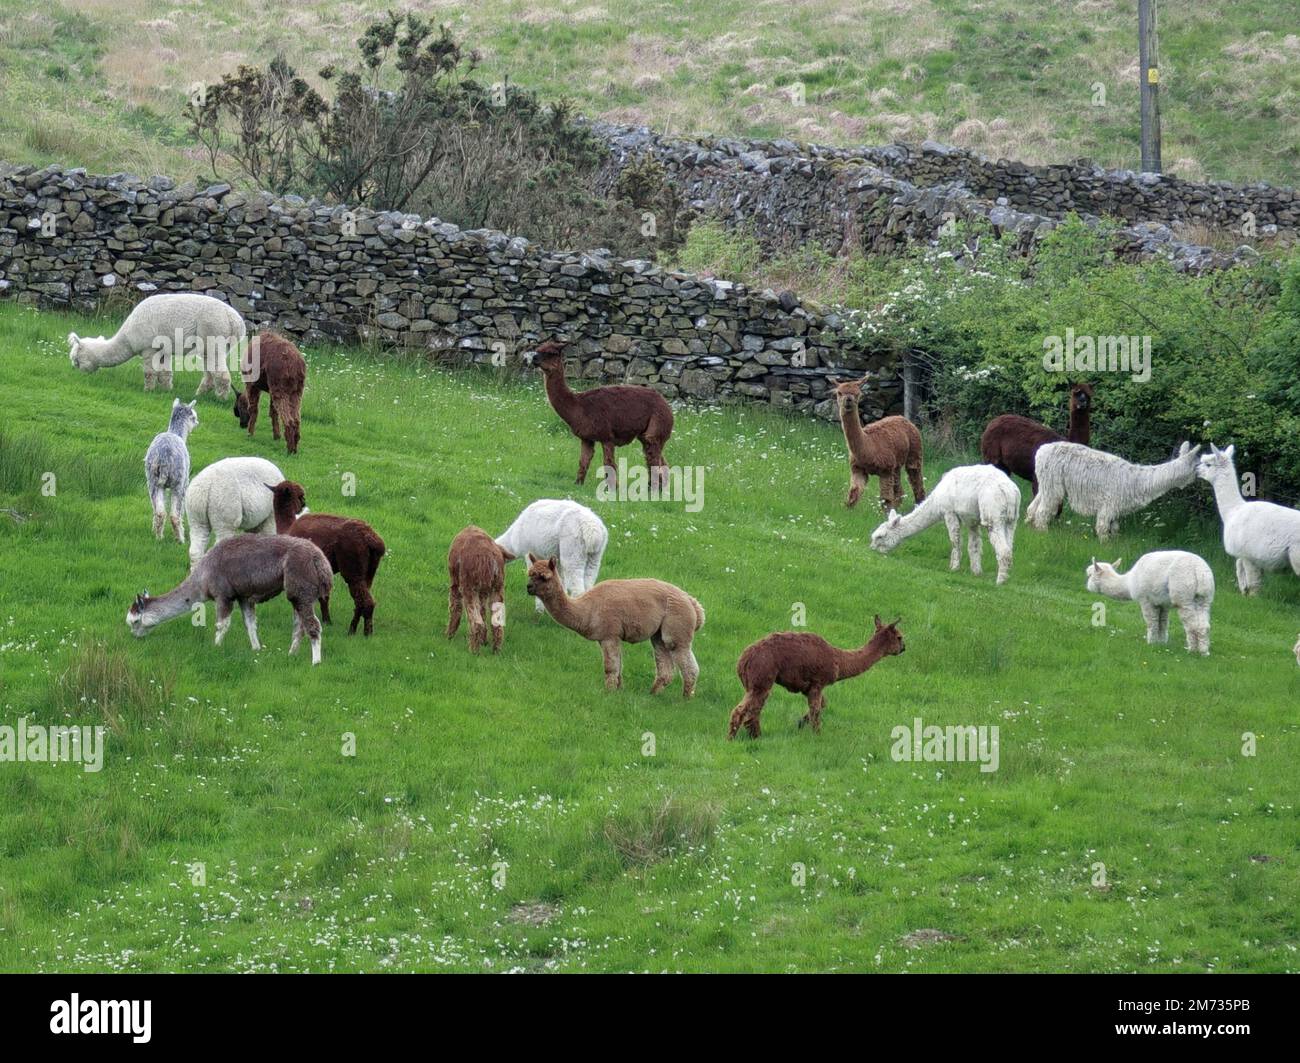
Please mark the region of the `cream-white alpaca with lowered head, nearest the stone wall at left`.
<svg viewBox="0 0 1300 1063"><path fill-rule="evenodd" d="M69 333L68 356L77 369L94 373L143 353L144 390L152 391L159 385L170 391L174 365L199 355L203 379L195 396L214 387L224 399L230 394L226 355L240 344L244 334L239 311L211 295L151 295L127 314L112 339Z"/></svg>

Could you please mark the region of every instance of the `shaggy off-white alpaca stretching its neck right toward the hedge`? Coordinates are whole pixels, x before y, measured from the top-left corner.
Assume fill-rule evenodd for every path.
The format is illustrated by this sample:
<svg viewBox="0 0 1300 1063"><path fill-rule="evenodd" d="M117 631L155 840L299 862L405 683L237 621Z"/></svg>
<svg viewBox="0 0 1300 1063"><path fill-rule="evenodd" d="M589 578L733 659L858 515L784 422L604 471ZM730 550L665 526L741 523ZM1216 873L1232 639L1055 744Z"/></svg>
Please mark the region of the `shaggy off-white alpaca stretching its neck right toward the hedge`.
<svg viewBox="0 0 1300 1063"><path fill-rule="evenodd" d="M1084 517L1096 516L1097 538L1109 539L1119 530L1119 519L1136 513L1157 498L1196 478L1200 447L1183 443L1178 457L1161 465L1134 465L1113 454L1082 443L1048 443L1039 447L1034 472L1039 493L1026 520L1044 529L1065 502Z"/></svg>

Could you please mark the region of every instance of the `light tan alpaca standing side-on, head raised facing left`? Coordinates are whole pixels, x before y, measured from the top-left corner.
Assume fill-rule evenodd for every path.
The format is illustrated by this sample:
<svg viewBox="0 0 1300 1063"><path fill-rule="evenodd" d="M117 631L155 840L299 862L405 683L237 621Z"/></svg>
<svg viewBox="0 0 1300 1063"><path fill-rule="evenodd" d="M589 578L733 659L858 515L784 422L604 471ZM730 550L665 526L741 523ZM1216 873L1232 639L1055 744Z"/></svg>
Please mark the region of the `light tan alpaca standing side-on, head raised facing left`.
<svg viewBox="0 0 1300 1063"><path fill-rule="evenodd" d="M604 654L604 686L623 686L623 643L650 639L654 650L654 685L658 694L681 672L681 693L696 693L699 665L690 650L696 632L705 626L703 607L681 587L662 580L604 580L585 594L569 598L556 574L556 559L528 555L528 593L540 598L559 624L582 638L599 642Z"/></svg>

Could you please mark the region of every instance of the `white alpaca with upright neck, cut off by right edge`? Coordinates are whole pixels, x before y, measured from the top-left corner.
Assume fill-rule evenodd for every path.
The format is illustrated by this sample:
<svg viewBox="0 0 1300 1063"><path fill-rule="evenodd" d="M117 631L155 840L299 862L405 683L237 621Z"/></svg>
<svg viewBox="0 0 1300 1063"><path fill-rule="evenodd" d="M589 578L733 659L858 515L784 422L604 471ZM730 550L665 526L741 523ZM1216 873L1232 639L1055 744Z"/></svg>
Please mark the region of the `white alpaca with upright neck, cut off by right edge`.
<svg viewBox="0 0 1300 1063"><path fill-rule="evenodd" d="M1221 451L1212 443L1196 474L1214 489L1214 502L1223 519L1223 550L1236 557L1236 585L1242 594L1254 594L1265 572L1290 565L1300 576L1300 512L1273 502L1242 498L1234 454L1235 447Z"/></svg>

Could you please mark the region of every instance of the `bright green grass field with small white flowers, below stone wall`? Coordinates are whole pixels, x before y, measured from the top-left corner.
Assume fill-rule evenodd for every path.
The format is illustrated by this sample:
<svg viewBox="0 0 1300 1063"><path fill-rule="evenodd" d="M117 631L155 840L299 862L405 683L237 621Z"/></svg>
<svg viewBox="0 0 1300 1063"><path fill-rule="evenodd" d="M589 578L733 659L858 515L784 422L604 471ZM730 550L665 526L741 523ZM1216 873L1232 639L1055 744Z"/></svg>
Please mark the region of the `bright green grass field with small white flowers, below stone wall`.
<svg viewBox="0 0 1300 1063"><path fill-rule="evenodd" d="M1300 585L1243 599L1217 529L1176 503L1106 556L1212 561L1208 660L1176 621L1148 647L1130 603L1092 626L1096 544L1069 513L1020 528L1004 587L949 573L941 526L872 554L835 426L684 408L667 454L705 468L703 509L602 503L536 377L312 348L298 456L211 398L191 454L270 457L315 511L370 521L374 637L343 633L339 583L318 668L287 655L283 599L259 655L238 622L220 648L185 620L136 641L131 596L186 572L142 470L170 396L139 363L72 369L69 329L104 325L0 305L0 723L109 728L99 773L0 764L0 968L1300 968ZM957 460L931 455L927 483ZM455 532L571 493L610 526L602 577L703 603L693 700L649 697L649 646L607 693L599 648L534 616L519 565L499 656L443 638ZM763 738L727 742L740 651L800 603L841 646L901 615L907 651L832 687L820 736L777 691ZM890 730L918 716L996 724L1000 769L896 763ZM950 940L910 937L931 929Z"/></svg>

